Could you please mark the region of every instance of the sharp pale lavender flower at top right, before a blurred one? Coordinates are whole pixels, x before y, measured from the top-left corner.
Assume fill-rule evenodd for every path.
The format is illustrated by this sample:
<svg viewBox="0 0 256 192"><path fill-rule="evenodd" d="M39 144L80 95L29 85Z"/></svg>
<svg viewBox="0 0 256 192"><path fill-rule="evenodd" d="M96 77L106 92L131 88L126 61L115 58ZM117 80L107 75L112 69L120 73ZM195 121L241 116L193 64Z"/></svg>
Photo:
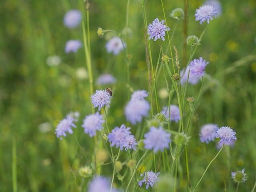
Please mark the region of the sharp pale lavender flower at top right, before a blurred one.
<svg viewBox="0 0 256 192"><path fill-rule="evenodd" d="M210 22L210 20L213 20L212 17L216 17L216 7L212 5L203 5L200 6L199 9L196 9L196 21L200 20L200 24L202 24L204 21L207 21L207 23Z"/></svg>

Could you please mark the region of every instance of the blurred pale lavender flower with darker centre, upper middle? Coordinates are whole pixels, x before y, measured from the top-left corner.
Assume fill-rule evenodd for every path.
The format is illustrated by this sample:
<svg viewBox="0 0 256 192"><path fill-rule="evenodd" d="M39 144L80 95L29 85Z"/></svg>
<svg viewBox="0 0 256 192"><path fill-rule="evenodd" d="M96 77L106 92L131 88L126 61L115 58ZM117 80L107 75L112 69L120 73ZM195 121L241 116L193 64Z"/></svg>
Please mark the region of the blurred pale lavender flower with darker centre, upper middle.
<svg viewBox="0 0 256 192"><path fill-rule="evenodd" d="M126 48L126 44L117 36L110 39L106 44L107 52L114 55L118 55L124 48Z"/></svg>

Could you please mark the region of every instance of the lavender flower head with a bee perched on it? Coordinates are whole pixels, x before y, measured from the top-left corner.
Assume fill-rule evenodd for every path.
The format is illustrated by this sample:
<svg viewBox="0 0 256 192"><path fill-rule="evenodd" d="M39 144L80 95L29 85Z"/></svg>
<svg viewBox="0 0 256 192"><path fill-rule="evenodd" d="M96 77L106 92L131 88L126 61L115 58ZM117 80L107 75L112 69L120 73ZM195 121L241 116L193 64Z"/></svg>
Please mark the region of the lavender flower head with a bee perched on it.
<svg viewBox="0 0 256 192"><path fill-rule="evenodd" d="M104 106L110 107L110 94L106 90L96 90L91 99L94 108L98 107L99 111Z"/></svg>

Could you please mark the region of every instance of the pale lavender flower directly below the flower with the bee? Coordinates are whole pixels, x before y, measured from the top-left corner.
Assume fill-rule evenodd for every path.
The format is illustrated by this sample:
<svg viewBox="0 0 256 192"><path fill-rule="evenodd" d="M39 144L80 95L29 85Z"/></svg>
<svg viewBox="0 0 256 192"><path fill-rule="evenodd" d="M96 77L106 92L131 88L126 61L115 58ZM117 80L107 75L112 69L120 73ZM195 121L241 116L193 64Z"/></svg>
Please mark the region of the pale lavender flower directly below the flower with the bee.
<svg viewBox="0 0 256 192"><path fill-rule="evenodd" d="M102 123L104 123L103 115L100 115L97 111L95 114L90 114L84 118L82 127L84 128L84 132L92 137L96 135L96 131L103 129Z"/></svg>

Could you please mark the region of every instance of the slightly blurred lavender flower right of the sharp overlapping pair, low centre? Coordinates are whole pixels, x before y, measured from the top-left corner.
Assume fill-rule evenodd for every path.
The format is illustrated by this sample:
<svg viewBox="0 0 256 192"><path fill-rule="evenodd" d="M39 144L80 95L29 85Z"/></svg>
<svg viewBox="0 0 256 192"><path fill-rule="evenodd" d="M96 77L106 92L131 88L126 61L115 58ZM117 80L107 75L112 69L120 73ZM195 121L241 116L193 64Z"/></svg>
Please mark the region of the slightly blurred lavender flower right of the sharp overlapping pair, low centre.
<svg viewBox="0 0 256 192"><path fill-rule="evenodd" d="M162 127L150 127L150 131L144 135L145 149L153 149L154 153L169 148L171 134L167 133Z"/></svg>

